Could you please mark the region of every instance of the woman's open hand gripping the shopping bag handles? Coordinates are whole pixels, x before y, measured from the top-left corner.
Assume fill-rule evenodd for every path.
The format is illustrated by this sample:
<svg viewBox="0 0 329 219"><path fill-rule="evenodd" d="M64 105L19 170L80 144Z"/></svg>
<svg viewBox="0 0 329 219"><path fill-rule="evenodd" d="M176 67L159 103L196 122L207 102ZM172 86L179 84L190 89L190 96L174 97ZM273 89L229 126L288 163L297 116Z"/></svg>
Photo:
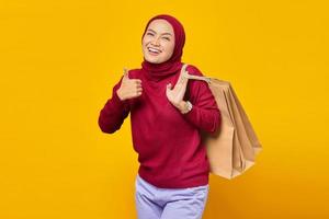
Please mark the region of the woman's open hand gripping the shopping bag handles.
<svg viewBox="0 0 329 219"><path fill-rule="evenodd" d="M171 83L167 84L167 91L166 91L167 99L170 101L172 105L174 105L178 108L181 106L181 102L183 101L183 97L185 95L185 91L189 82L189 79L183 77L182 74L183 71L186 72L185 69L186 66L183 66L180 73L180 78L178 79L178 82L175 83L173 89Z"/></svg>

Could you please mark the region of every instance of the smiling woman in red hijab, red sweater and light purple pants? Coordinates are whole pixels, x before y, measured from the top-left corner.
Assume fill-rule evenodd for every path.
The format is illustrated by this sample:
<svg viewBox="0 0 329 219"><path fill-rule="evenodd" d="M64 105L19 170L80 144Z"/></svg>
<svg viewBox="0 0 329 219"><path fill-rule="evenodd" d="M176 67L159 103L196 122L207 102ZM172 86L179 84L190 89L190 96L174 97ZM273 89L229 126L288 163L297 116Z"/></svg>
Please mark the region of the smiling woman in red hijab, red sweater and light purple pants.
<svg viewBox="0 0 329 219"><path fill-rule="evenodd" d="M131 113L140 163L135 184L139 219L202 218L207 200L209 164L200 131L215 132L220 113L206 82L180 77L184 43L177 19L150 19L141 37L141 68L124 73L100 112L99 126L107 134ZM186 70L203 76L194 66Z"/></svg>

